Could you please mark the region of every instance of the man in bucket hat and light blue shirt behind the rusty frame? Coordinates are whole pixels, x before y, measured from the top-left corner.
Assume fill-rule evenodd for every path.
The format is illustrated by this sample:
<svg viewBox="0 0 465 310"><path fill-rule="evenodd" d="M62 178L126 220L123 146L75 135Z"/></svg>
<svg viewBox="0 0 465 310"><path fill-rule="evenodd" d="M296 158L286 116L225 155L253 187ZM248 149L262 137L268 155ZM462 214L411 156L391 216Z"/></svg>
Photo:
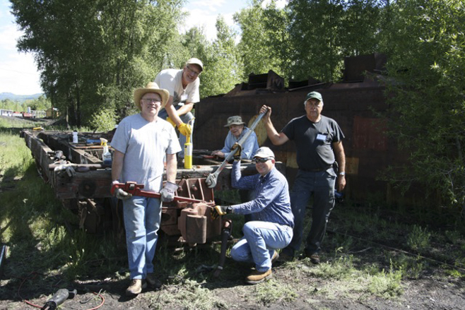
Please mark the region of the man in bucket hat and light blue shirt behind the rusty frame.
<svg viewBox="0 0 465 310"><path fill-rule="evenodd" d="M228 123L225 124L225 127L229 127L228 136L225 139L225 146L221 150L214 150L211 155L216 155L221 158L228 157L231 152L232 145L240 141L240 139L248 132L250 129L245 126L245 122L242 121L242 117L235 115L234 117L228 117ZM259 148L259 143L257 141L257 135L254 131L250 133L249 138L242 145L242 152L240 157L243 160L250 160L252 156L257 152Z"/></svg>

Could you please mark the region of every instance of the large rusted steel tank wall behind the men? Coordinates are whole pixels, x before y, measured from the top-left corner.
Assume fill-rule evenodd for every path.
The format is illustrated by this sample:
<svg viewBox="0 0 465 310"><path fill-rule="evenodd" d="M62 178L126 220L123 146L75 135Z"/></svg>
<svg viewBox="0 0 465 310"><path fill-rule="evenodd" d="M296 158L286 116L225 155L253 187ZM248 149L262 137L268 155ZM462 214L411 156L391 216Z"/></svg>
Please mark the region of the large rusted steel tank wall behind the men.
<svg viewBox="0 0 465 310"><path fill-rule="evenodd" d="M276 93L240 93L228 97L207 97L196 105L194 148L218 150L223 148L228 128L226 119L240 115L247 124L259 114L262 105L271 107L271 121L279 132L288 122L305 114L305 95L312 90L322 93L323 112L335 119L346 138L343 146L347 157L348 184L346 195L363 198L366 189L385 194L387 184L377 181L385 167L392 165L394 143L384 136L386 123L372 112L384 111L384 86L374 80L360 83L309 85L292 91ZM286 165L286 177L292 186L296 174L295 145L292 141L281 146L271 144L262 124L255 129L260 146L269 146L276 159Z"/></svg>

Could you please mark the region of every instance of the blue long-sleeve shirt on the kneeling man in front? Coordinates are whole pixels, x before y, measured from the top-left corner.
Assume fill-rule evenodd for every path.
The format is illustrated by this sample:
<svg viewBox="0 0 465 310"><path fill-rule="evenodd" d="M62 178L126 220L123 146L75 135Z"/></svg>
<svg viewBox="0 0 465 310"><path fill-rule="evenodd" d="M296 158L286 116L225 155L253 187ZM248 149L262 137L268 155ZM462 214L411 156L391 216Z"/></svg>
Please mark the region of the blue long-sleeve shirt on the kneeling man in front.
<svg viewBox="0 0 465 310"><path fill-rule="evenodd" d="M264 177L260 174L242 177L240 161L235 161L232 165L231 182L235 189L254 189L256 195L252 201L232 205L234 213L251 214L252 220L294 227L288 181L276 167Z"/></svg>

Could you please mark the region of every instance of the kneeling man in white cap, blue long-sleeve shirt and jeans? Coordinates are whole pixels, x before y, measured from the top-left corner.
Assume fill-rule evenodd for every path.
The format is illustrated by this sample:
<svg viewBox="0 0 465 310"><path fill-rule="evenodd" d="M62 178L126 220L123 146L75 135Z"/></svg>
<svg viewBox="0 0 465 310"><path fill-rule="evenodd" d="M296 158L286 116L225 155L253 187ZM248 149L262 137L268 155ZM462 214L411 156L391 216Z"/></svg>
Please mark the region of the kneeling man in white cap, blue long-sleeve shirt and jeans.
<svg viewBox="0 0 465 310"><path fill-rule="evenodd" d="M211 217L237 213L251 216L242 227L242 237L231 249L235 261L254 263L255 270L245 278L257 284L271 278L271 265L278 258L277 249L287 246L293 237L294 217L290 209L289 188L286 177L274 167L273 151L262 146L254 155L259 174L242 177L240 160L232 165L231 183L236 189L255 191L255 198L239 205L216 205Z"/></svg>

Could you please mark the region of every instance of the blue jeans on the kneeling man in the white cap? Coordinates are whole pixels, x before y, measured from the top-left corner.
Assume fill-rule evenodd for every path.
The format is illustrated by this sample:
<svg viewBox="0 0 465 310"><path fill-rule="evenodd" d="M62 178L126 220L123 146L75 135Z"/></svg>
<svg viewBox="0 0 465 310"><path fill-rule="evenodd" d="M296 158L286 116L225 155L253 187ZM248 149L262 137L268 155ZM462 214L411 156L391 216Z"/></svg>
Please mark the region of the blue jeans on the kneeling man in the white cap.
<svg viewBox="0 0 465 310"><path fill-rule="evenodd" d="M293 237L293 229L272 222L250 221L242 227L244 237L232 246L231 257L235 261L255 263L263 273L271 268L271 257L276 249L283 249Z"/></svg>

